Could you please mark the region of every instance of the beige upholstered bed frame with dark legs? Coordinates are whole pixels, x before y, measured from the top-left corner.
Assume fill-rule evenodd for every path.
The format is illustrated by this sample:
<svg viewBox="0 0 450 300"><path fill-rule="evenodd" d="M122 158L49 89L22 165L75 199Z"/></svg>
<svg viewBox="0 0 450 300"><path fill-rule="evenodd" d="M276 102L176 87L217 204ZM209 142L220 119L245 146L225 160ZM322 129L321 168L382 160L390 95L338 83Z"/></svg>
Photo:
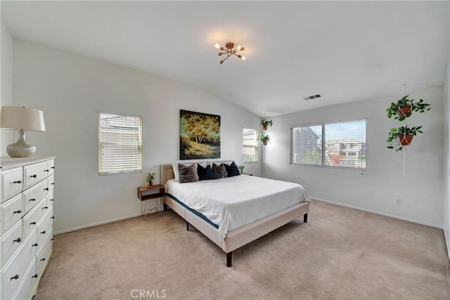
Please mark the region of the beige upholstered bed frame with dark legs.
<svg viewBox="0 0 450 300"><path fill-rule="evenodd" d="M161 184L164 185L166 181L174 178L174 171L172 164L161 165ZM278 211L276 214L271 214L263 219L259 219L255 222L241 226L239 228L230 230L226 233L226 237L223 241L219 240L219 231L214 228L210 223L203 220L192 211L186 209L181 204L170 198L164 197L164 204L173 209L176 214L179 214L181 218L186 220L186 230L189 230L189 224L197 228L200 233L206 235L212 242L221 247L226 253L226 266L231 267L231 258L233 250L242 247L249 242L256 240L267 233L279 228L290 221L293 221L300 216L303 216L304 223L308 221L309 202L302 202L295 204L292 207L288 207L282 211Z"/></svg>

